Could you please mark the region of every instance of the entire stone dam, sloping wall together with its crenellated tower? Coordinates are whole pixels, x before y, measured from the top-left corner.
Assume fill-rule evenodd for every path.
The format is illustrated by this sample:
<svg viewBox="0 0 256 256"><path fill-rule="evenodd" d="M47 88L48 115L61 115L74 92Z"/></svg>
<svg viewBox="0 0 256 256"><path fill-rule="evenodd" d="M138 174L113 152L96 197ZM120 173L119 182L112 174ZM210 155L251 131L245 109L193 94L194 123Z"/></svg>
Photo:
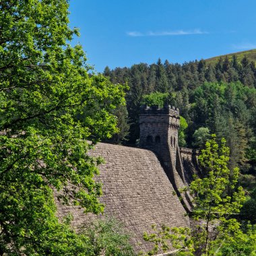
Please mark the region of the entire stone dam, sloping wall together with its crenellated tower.
<svg viewBox="0 0 256 256"><path fill-rule="evenodd" d="M143 232L150 232L152 224L189 226L190 196L179 189L197 169L195 153L178 145L179 109L143 106L139 123L140 148L98 143L90 152L105 161L96 178L103 183L102 216L84 214L81 207L56 200L59 218L71 212L75 229L92 218L114 216L131 233L137 252L152 249L143 241Z"/></svg>

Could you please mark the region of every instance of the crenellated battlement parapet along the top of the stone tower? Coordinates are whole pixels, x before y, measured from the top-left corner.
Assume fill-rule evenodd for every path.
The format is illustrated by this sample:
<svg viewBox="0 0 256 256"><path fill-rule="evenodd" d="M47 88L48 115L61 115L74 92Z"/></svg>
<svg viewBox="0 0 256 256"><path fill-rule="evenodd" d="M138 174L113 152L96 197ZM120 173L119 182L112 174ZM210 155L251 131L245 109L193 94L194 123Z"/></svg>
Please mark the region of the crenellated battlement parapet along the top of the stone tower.
<svg viewBox="0 0 256 256"><path fill-rule="evenodd" d="M171 117L176 117L179 119L180 112L179 108L170 105L164 105L163 108L160 108L158 105L148 106L142 105L140 107L140 115L169 115Z"/></svg>

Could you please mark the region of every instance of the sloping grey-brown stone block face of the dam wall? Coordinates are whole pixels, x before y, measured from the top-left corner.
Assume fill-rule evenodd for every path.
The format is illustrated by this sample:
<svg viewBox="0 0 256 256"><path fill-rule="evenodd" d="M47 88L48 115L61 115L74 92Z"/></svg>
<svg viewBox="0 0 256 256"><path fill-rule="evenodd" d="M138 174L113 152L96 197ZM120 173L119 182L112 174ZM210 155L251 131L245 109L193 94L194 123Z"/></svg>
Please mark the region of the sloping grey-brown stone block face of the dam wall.
<svg viewBox="0 0 256 256"><path fill-rule="evenodd" d="M150 232L152 224L189 226L185 209L152 151L98 143L92 156L102 156L105 161L97 177L103 183L104 216L123 222L136 251L152 249L143 241L143 232ZM56 203L59 218L73 214L75 228L90 218L100 218L84 214L81 207Z"/></svg>

